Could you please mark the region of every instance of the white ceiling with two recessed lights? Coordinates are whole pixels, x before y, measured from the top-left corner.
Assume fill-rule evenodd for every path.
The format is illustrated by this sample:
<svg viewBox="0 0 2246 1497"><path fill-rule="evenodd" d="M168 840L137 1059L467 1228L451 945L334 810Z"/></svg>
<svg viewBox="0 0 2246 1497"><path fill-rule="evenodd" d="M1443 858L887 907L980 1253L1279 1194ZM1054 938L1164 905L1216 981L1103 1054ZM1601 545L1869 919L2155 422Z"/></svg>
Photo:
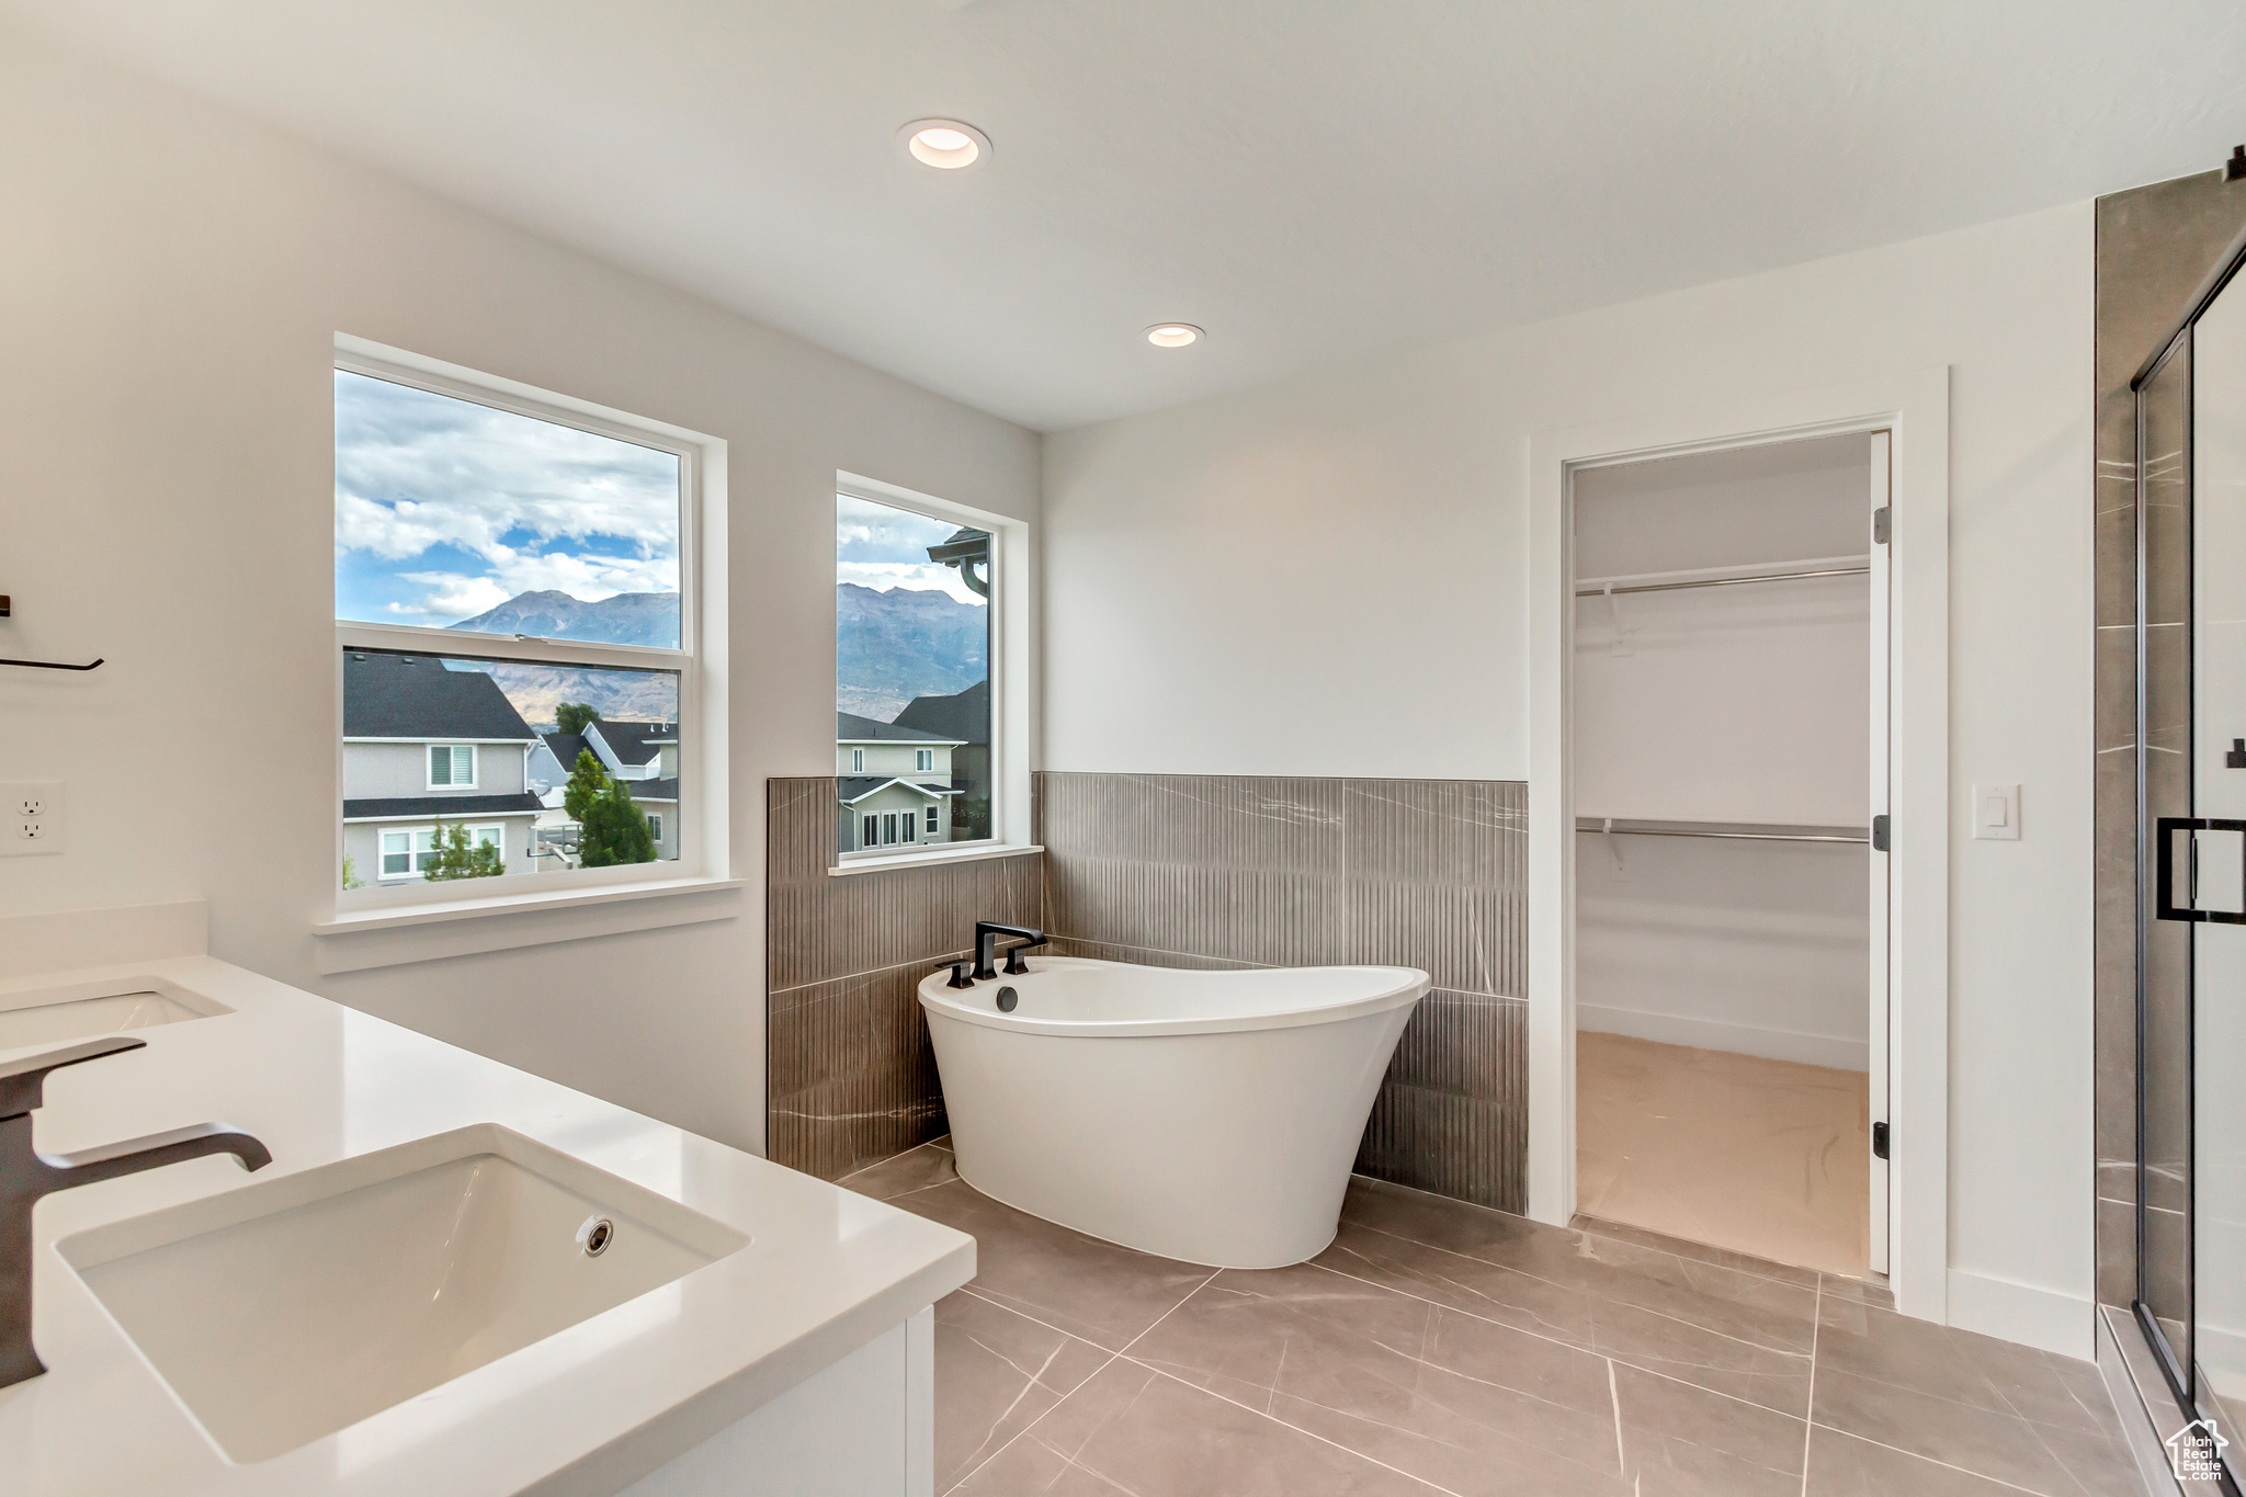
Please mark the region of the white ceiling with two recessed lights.
<svg viewBox="0 0 2246 1497"><path fill-rule="evenodd" d="M1038 429L2246 139L2239 0L0 0ZM907 119L993 139L905 164ZM1208 328L1190 350L1141 328Z"/></svg>

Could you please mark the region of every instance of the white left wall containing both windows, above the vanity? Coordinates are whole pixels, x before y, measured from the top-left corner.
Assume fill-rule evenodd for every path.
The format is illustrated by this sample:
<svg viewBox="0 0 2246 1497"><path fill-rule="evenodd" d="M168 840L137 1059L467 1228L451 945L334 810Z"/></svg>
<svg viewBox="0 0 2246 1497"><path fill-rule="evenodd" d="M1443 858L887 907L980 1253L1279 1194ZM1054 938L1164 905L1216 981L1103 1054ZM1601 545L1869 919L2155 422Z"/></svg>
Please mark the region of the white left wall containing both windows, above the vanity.
<svg viewBox="0 0 2246 1497"><path fill-rule="evenodd" d="M663 171L663 162L649 162ZM764 779L833 768L833 478L1029 518L1017 426L166 88L0 34L0 911L200 896L211 952L712 1138L764 1138ZM730 444L739 916L321 979L337 332Z"/></svg>

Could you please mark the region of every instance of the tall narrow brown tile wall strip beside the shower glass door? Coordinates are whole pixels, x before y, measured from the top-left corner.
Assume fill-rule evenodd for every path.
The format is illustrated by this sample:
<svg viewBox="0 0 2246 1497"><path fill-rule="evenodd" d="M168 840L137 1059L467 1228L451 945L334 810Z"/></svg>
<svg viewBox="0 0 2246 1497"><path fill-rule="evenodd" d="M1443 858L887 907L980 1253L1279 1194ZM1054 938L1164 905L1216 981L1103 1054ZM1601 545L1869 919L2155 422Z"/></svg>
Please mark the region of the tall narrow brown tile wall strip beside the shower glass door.
<svg viewBox="0 0 2246 1497"><path fill-rule="evenodd" d="M2246 182L2224 182L2219 171L2098 200L2096 1044L2098 1297L2107 1304L2127 1304L2136 1286L2136 438L2129 377L2242 224Z"/></svg>

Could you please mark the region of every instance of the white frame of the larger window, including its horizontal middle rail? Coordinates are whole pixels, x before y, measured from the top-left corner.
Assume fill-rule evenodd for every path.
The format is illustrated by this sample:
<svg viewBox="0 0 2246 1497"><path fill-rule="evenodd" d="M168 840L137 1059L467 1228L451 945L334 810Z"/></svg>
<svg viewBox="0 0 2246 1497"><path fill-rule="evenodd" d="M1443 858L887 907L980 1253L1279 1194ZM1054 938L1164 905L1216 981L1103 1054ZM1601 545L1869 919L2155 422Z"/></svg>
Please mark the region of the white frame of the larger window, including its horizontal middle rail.
<svg viewBox="0 0 2246 1497"><path fill-rule="evenodd" d="M725 444L683 426L640 417L584 399L539 391L496 375L442 364L400 348L337 334L332 368L386 379L433 395L465 399L512 415L570 426L593 435L631 442L678 458L678 649L651 644L602 644L586 640L535 640L465 628L431 628L418 624L373 624L335 619L335 869L332 920L317 925L332 934L339 922L404 913L413 904L458 902L472 898L478 907L501 911L512 904L539 904L557 891L597 893L613 889L629 896L633 884L732 882L732 842L725 808L725 774L712 772L725 754L725 577L705 559L725 554ZM332 485L330 485L332 525ZM332 588L332 566L330 566ZM332 613L332 606L330 606ZM375 839L375 873L362 889L341 887L346 851L344 826L344 658L350 651L402 651L454 660L494 660L521 664L566 664L622 671L674 671L678 678L678 857L656 857L645 864L609 869L537 869L505 880L476 880L474 893L463 884L431 884L416 875L382 878L382 839ZM436 741L429 741L431 745ZM526 747L528 754L535 750ZM422 777L429 774L429 752L422 747ZM438 790L481 790L483 756L476 754L474 786L429 786ZM476 826L483 826L481 821ZM501 833L505 855L505 833ZM508 869L514 873L514 869ZM505 884L505 887L496 887Z"/></svg>

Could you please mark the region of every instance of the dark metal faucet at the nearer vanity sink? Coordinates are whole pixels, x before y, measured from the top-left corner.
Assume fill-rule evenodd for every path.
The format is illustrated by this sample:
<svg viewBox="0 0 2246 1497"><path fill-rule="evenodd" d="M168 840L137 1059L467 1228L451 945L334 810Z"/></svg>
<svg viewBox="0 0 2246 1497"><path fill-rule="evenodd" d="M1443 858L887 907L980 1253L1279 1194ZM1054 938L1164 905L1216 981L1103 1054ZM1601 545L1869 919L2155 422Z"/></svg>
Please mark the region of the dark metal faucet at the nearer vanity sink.
<svg viewBox="0 0 2246 1497"><path fill-rule="evenodd" d="M119 1035L0 1062L0 1387L47 1371L31 1349L31 1207L40 1196L204 1154L231 1154L243 1169L274 1163L265 1145L222 1122L198 1122L79 1154L40 1154L31 1147L31 1113L38 1111L49 1071L146 1044Z"/></svg>

